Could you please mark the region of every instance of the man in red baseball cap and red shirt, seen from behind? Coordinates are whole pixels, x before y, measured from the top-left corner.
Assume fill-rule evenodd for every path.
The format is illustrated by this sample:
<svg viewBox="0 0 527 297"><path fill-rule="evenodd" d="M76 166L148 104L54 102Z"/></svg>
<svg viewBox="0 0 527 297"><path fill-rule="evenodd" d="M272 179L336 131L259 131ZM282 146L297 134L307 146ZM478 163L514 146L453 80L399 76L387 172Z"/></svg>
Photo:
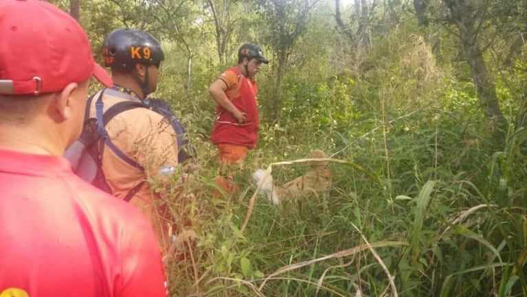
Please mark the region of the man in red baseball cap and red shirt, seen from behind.
<svg viewBox="0 0 527 297"><path fill-rule="evenodd" d="M62 157L94 76L87 35L54 5L0 1L0 296L167 296L151 225Z"/></svg>

